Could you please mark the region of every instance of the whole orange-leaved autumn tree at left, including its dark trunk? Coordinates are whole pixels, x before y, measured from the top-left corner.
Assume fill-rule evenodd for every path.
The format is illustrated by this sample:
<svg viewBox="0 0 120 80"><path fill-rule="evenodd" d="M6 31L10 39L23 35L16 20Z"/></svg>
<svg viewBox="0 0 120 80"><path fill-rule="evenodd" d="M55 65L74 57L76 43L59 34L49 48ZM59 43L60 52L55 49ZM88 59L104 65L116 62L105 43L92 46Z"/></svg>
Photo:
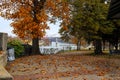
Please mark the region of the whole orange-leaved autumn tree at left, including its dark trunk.
<svg viewBox="0 0 120 80"><path fill-rule="evenodd" d="M64 27L69 23L67 0L1 0L0 16L11 19L13 32L22 39L32 38L32 53L39 54L39 39L49 29L47 21L59 18Z"/></svg>

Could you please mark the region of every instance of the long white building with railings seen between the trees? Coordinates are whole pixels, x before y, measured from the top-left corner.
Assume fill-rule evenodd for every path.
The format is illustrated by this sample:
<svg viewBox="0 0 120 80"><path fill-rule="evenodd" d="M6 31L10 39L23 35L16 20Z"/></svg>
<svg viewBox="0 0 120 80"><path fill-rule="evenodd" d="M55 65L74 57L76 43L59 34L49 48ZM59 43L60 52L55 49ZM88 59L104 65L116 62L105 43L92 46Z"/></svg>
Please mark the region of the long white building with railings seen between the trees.
<svg viewBox="0 0 120 80"><path fill-rule="evenodd" d="M58 40L59 39L59 40ZM76 50L77 46L71 43L65 43L60 38L54 38L50 41L49 46L40 46L40 51L43 54L55 54L61 50Z"/></svg>

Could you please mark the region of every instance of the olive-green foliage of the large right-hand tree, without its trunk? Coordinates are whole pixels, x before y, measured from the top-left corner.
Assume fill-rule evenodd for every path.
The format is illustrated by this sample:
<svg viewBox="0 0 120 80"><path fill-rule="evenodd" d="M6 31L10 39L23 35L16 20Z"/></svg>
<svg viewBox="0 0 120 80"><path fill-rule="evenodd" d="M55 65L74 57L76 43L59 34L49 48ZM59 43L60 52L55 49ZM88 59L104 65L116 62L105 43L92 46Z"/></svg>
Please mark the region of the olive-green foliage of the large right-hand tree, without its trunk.
<svg viewBox="0 0 120 80"><path fill-rule="evenodd" d="M73 7L75 12L72 13L72 19L76 22L73 22L73 24L79 25L81 30L85 31L89 36L101 37L100 33L110 33L112 31L112 23L106 20L108 5L101 2L101 0L75 0ZM109 25L106 25L108 22Z"/></svg>

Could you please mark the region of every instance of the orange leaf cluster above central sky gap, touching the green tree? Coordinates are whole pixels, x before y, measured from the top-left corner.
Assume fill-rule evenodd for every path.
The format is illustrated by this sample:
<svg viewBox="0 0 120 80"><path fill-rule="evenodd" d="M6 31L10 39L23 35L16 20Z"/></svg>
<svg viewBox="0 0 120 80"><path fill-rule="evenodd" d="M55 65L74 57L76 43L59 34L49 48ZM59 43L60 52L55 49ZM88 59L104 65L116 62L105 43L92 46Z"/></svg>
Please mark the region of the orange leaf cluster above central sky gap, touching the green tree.
<svg viewBox="0 0 120 80"><path fill-rule="evenodd" d="M70 18L70 7L69 3L64 0L48 0L47 2L50 15L55 16L63 20L67 25L69 24Z"/></svg>

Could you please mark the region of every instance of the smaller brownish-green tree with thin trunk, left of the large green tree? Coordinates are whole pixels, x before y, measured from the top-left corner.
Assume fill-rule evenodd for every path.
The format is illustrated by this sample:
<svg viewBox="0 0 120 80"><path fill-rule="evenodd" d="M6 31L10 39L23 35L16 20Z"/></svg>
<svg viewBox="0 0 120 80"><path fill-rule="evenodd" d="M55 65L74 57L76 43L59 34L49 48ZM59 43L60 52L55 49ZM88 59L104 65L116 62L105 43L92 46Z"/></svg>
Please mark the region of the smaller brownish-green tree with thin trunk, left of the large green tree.
<svg viewBox="0 0 120 80"><path fill-rule="evenodd" d="M74 21L71 23L75 23ZM72 42L77 45L77 50L80 50L81 39L83 37L83 32L80 30L79 26L68 25L67 30L61 28L59 33L61 34L62 40L65 42Z"/></svg>

